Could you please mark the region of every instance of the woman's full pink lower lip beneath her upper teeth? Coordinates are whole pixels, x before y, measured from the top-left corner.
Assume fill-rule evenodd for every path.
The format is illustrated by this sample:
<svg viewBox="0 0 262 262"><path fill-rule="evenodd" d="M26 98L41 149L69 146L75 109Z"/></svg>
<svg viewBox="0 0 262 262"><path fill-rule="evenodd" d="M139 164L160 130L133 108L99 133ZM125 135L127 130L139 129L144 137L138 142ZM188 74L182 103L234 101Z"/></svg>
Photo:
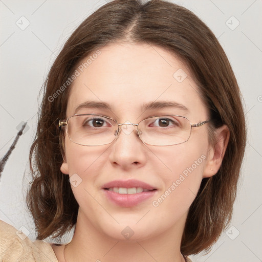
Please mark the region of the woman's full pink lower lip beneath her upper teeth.
<svg viewBox="0 0 262 262"><path fill-rule="evenodd" d="M109 191L104 189L106 197L121 207L133 207L138 205L139 203L151 198L157 190L141 192L136 194L119 194L114 191Z"/></svg>

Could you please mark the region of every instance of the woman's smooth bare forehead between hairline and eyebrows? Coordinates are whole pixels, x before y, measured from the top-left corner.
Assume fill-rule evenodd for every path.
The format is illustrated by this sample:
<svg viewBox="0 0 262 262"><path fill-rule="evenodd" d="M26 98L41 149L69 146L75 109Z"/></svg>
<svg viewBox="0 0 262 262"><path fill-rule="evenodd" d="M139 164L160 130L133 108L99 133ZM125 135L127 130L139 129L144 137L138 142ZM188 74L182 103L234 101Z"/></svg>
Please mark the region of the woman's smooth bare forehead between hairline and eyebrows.
<svg viewBox="0 0 262 262"><path fill-rule="evenodd" d="M160 101L182 105L176 112L187 107L192 117L206 115L199 88L186 64L161 47L110 44L82 59L77 71L79 75L70 87L67 116L75 114L86 101L104 102L111 112L123 117L130 112L141 115L144 105Z"/></svg>

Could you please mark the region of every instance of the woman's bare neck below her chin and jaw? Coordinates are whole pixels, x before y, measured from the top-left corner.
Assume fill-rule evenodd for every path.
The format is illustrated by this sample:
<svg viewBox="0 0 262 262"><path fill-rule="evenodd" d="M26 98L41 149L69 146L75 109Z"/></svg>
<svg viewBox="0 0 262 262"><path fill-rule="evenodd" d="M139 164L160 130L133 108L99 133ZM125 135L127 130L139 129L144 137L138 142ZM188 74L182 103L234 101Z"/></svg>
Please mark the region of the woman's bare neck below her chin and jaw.
<svg viewBox="0 0 262 262"><path fill-rule="evenodd" d="M155 237L145 239L135 237L134 234L129 239L123 240L114 239L99 231L79 212L72 241L64 249L64 260L65 262L184 261L180 253L180 244L185 217L182 223Z"/></svg>

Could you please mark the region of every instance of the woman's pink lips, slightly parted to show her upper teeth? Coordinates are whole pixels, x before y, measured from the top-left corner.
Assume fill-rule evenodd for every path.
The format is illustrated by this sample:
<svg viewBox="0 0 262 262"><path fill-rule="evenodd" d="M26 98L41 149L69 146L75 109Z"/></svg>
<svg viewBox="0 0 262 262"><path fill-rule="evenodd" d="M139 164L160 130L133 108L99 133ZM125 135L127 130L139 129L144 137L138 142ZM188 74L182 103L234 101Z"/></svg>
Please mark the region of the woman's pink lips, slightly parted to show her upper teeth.
<svg viewBox="0 0 262 262"><path fill-rule="evenodd" d="M121 207L133 207L151 198L157 188L139 180L117 180L106 183L103 190L108 200Z"/></svg>

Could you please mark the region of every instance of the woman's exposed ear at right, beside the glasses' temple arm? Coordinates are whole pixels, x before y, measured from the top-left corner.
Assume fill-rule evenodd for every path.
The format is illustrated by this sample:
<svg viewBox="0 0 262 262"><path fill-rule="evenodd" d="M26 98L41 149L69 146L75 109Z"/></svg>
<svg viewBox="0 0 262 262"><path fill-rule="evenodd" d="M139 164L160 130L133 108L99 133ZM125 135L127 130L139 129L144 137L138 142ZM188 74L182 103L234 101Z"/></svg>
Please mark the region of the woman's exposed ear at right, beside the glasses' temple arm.
<svg viewBox="0 0 262 262"><path fill-rule="evenodd" d="M214 145L210 145L203 178L212 177L219 171L227 149L229 137L230 132L227 125L223 125L215 130L215 142Z"/></svg>

